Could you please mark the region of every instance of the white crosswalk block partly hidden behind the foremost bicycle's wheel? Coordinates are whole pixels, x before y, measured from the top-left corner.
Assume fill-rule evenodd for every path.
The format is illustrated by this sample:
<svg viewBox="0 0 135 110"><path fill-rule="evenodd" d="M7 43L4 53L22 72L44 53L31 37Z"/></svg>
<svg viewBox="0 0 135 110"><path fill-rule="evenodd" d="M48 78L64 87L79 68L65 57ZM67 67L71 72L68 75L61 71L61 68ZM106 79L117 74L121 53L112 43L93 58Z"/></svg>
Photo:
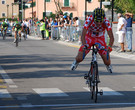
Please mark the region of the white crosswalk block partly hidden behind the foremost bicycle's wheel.
<svg viewBox="0 0 135 110"><path fill-rule="evenodd" d="M90 91L90 89L88 87L83 87L83 88L86 89L87 91ZM99 87L98 90L100 91L101 89L103 90L103 95L123 95L123 94L116 92L108 87Z"/></svg>

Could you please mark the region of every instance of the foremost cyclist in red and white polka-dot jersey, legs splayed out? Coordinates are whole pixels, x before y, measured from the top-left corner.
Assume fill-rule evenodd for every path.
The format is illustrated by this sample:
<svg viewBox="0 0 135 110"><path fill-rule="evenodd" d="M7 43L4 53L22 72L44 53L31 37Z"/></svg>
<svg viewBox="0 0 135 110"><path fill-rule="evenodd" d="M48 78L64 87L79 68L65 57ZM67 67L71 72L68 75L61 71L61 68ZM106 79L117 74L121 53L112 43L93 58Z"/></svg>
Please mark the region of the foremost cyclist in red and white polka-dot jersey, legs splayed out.
<svg viewBox="0 0 135 110"><path fill-rule="evenodd" d="M109 45L107 46L105 43L105 30L109 35L110 41ZM90 15L84 25L83 25L83 32L81 36L82 45L80 46L78 55L76 56L75 61L71 65L71 70L75 70L78 64L83 60L83 50L84 48L90 49L91 46L95 43L101 44L107 49L109 52L112 51L112 45L114 42L114 36L112 33L112 28L109 21L105 17L105 12L101 8L96 8L92 15ZM85 55L87 55L89 50L85 51ZM99 50L99 54L103 59L104 64L108 72L112 71L110 55L109 59L107 59L107 51L106 50Z"/></svg>

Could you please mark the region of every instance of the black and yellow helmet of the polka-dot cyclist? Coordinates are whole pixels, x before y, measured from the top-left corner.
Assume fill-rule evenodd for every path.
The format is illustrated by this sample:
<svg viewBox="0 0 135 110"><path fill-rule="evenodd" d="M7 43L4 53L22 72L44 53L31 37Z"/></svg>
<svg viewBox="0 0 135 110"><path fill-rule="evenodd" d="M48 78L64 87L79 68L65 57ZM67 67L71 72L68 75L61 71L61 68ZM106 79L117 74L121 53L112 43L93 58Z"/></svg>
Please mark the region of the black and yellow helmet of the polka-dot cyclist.
<svg viewBox="0 0 135 110"><path fill-rule="evenodd" d="M105 18L105 11L102 8L96 8L93 12L94 21L102 22Z"/></svg>

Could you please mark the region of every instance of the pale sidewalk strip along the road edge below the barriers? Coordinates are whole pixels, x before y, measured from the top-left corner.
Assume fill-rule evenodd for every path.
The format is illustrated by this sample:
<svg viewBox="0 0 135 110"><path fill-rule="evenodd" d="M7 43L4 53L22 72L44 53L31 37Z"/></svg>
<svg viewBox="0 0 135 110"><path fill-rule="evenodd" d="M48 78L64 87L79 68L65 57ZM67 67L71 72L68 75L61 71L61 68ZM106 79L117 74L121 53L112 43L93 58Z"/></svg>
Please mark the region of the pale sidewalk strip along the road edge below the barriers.
<svg viewBox="0 0 135 110"><path fill-rule="evenodd" d="M33 39L33 40L41 40L41 38L37 36L28 36L28 38ZM70 46L70 47L75 47L75 48L80 47L80 45L76 42L66 42L66 41L60 41L60 40L56 40L56 42L62 45ZM111 55L116 56L116 57L130 59L130 60L135 60L135 51L121 53L120 47L118 46L113 46L113 51L111 52Z"/></svg>

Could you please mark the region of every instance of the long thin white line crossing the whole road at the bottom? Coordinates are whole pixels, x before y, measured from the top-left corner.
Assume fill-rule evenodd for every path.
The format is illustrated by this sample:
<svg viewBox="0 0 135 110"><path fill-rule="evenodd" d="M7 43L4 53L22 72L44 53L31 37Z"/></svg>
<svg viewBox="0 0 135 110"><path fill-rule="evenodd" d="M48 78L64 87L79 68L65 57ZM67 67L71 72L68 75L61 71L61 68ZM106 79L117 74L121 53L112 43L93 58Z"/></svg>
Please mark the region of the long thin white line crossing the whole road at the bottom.
<svg viewBox="0 0 135 110"><path fill-rule="evenodd" d="M53 104L53 105L31 105L31 104L22 104L16 106L0 106L0 108L34 108L34 107L73 107L73 106L122 106L122 105L134 105L135 103L95 103L95 104Z"/></svg>

